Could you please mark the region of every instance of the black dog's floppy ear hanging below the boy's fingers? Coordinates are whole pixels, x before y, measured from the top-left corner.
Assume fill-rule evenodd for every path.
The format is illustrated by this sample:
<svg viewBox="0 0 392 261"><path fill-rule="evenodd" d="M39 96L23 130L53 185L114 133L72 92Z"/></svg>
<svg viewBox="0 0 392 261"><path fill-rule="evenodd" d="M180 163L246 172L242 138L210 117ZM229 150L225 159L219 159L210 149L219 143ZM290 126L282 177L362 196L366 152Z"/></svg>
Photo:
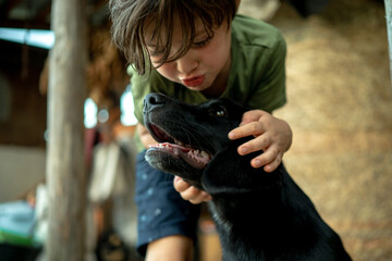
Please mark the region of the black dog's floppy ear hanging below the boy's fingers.
<svg viewBox="0 0 392 261"><path fill-rule="evenodd" d="M259 191L281 185L282 175L279 169L267 173L262 167L255 169L250 165L250 160L260 152L247 156L237 153L237 147L244 142L243 139L229 142L207 165L201 184L211 196Z"/></svg>

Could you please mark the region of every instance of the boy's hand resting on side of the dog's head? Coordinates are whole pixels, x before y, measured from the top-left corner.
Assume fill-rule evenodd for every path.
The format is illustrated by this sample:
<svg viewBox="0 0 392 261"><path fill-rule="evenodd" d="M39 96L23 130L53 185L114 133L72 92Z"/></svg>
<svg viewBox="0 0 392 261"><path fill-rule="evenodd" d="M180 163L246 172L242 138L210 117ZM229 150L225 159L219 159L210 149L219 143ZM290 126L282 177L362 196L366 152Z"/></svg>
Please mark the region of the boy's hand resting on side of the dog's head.
<svg viewBox="0 0 392 261"><path fill-rule="evenodd" d="M255 138L241 145L241 156L262 150L264 153L250 161L253 167L264 165L266 172L274 171L282 161L283 153L292 142L292 130L289 124L261 110L253 110L244 113L240 127L229 133L230 139L246 136Z"/></svg>

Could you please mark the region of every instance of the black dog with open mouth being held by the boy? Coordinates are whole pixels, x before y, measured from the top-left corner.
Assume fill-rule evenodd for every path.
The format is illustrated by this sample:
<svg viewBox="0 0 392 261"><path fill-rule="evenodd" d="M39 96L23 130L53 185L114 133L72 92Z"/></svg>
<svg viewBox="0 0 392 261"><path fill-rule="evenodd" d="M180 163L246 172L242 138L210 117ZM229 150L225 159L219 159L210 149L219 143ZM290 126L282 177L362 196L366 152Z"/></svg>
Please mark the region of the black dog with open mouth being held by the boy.
<svg viewBox="0 0 392 261"><path fill-rule="evenodd" d="M145 126L160 144L151 146L146 160L212 196L208 206L223 260L351 260L282 164L266 173L250 166L256 153L237 153L252 137L230 140L228 133L244 112L230 100L191 105L150 94Z"/></svg>

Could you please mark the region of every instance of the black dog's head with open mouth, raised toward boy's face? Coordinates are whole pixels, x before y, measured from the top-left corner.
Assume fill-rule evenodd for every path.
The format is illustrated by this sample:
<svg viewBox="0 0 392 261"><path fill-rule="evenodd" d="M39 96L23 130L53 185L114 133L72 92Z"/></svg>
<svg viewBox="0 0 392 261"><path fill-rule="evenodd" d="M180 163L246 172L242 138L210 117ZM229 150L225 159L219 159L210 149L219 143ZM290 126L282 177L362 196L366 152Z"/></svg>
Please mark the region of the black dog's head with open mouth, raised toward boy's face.
<svg viewBox="0 0 392 261"><path fill-rule="evenodd" d="M193 105L160 94L146 96L145 126L159 142L147 150L147 162L210 195L271 186L277 175L260 174L261 169L252 167L250 159L255 153L237 153L237 147L252 137L228 138L245 111L244 107L228 99Z"/></svg>

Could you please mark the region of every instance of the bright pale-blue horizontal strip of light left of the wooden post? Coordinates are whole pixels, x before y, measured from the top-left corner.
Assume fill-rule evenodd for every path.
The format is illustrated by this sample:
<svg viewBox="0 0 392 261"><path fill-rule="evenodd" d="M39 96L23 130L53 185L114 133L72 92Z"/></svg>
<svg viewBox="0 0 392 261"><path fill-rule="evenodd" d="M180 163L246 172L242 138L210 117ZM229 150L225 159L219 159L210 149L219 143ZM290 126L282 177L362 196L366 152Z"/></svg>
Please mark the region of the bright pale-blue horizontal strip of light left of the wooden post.
<svg viewBox="0 0 392 261"><path fill-rule="evenodd" d="M54 33L44 29L0 28L0 39L50 49L54 45Z"/></svg>

